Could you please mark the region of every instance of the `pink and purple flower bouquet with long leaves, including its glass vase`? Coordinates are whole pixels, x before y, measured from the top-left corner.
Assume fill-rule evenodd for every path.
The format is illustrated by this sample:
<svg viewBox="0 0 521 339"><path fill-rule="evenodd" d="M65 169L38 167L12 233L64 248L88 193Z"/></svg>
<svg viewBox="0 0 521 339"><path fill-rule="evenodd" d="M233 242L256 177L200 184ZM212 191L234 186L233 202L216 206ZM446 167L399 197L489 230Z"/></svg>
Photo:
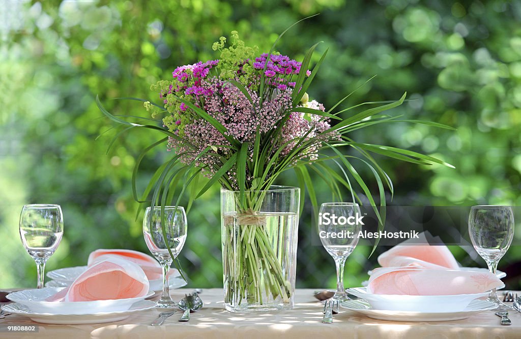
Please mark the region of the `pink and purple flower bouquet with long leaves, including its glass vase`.
<svg viewBox="0 0 521 339"><path fill-rule="evenodd" d="M282 33L280 37L283 35ZM304 188L317 205L308 169L315 171L341 198L341 187L353 200L359 188L377 211L368 186L353 161L367 166L374 174L385 204L384 186L392 192L390 178L370 153L387 155L418 164L444 162L409 150L364 144L349 134L357 129L400 120L380 114L397 107L405 94L394 102L349 114L366 102L340 109L349 96L326 110L307 94L320 65L322 54L312 70L311 47L302 62L275 52L248 47L237 32L213 45L218 60L197 62L176 68L172 79L162 80L151 89L160 104L144 101L151 112L147 123L134 123L110 114L97 99L98 107L110 119L132 128L150 128L165 137L146 148L133 173L134 197L147 204L179 204L189 185L200 197L217 182L221 189L221 234L224 267L225 304L228 310L287 309L293 305L295 286L296 230ZM135 99L135 98L132 98ZM141 99L138 99L141 100ZM432 122L411 121L446 127ZM144 155L162 143L172 157L153 176L141 199L135 189L135 175ZM356 155L345 155L351 149ZM274 186L279 175L293 169L302 190ZM339 171L337 171L338 169ZM194 184L200 176L205 185ZM174 198L175 188L181 192ZM355 184L356 183L356 184ZM153 191L152 191L153 190ZM147 199L150 197L151 199ZM300 203L299 203L300 201ZM361 203L361 201L360 201ZM383 216L377 213L383 226Z"/></svg>

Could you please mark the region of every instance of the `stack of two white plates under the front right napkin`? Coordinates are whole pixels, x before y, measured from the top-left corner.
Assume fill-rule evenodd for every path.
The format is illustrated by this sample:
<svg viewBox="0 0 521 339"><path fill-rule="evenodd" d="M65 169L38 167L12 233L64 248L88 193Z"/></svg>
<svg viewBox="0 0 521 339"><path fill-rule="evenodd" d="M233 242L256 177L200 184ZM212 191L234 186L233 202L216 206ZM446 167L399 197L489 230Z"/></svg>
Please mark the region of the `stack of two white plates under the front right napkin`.
<svg viewBox="0 0 521 339"><path fill-rule="evenodd" d="M348 289L361 299L341 303L343 308L369 318L393 321L449 321L466 319L495 308L479 300L486 293L457 295L384 295L368 293L365 287Z"/></svg>

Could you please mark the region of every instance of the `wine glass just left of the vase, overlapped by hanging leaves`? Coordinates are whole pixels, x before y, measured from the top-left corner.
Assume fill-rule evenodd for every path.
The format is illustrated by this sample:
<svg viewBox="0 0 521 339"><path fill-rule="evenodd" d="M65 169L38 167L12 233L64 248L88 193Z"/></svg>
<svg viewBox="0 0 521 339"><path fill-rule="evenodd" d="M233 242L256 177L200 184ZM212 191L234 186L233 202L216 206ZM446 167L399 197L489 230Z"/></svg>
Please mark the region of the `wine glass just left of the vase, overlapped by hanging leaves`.
<svg viewBox="0 0 521 339"><path fill-rule="evenodd" d="M177 304L170 296L168 271L172 263L172 257L168 250L177 258L187 239L187 215L181 206L164 207L165 227L162 225L161 206L147 207L143 219L143 236L148 250L156 257L163 267L163 292L156 307L175 308Z"/></svg>

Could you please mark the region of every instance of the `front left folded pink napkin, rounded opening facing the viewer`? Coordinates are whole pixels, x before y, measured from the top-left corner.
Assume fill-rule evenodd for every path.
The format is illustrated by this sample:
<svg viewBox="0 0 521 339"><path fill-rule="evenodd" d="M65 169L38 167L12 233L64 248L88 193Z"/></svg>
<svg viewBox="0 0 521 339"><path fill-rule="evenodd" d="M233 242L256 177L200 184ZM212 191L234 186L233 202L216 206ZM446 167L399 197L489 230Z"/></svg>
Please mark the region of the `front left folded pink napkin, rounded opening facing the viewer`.
<svg viewBox="0 0 521 339"><path fill-rule="evenodd" d="M88 302L145 296L148 279L141 267L110 257L87 268L72 284L49 297L52 302Z"/></svg>

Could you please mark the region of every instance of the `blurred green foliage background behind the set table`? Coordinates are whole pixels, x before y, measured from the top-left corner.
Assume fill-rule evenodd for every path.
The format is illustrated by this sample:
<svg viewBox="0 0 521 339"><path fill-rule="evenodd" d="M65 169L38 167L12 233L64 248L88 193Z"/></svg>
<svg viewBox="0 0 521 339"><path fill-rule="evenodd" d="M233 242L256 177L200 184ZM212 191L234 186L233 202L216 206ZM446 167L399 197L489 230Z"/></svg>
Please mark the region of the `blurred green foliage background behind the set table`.
<svg viewBox="0 0 521 339"><path fill-rule="evenodd" d="M267 51L290 24L317 12L278 46L297 60L318 41L324 42L319 52L330 48L312 98L330 107L377 74L351 105L407 91L416 100L394 114L457 127L394 123L354 136L456 166L378 158L394 181L393 204L521 205L519 1L0 0L0 288L35 285L34 262L18 236L26 203L58 203L64 211L65 237L47 270L84 265L98 248L148 253L130 176L137 154L159 136L126 135L106 154L114 131L96 139L112 126L94 103L97 94L115 114L146 114L139 102L110 99L155 100L150 84L170 79L176 66L217 58L211 46L219 36L238 30ZM171 155L156 151L142 165L141 188ZM330 200L327 186L313 180L319 202ZM290 175L281 181L296 184ZM218 187L194 203L188 218L181 262L189 285L221 286ZM311 218L307 201L297 287L333 288L332 259L311 245ZM465 266L485 265L472 251L452 250ZM369 246L358 246L350 257L347 285L367 279L376 265L369 253ZM499 267L508 273L507 288L521 288L519 266L521 247L512 246Z"/></svg>

